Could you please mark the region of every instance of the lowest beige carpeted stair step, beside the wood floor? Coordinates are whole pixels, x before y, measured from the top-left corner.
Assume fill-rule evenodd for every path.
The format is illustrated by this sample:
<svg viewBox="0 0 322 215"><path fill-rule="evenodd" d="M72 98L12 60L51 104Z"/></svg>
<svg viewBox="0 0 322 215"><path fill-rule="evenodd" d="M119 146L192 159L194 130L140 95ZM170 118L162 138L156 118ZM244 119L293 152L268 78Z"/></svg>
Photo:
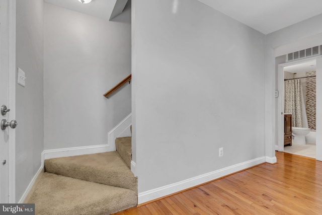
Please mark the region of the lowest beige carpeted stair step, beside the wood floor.
<svg viewBox="0 0 322 215"><path fill-rule="evenodd" d="M110 214L136 206L137 193L45 172L28 203L42 215Z"/></svg>

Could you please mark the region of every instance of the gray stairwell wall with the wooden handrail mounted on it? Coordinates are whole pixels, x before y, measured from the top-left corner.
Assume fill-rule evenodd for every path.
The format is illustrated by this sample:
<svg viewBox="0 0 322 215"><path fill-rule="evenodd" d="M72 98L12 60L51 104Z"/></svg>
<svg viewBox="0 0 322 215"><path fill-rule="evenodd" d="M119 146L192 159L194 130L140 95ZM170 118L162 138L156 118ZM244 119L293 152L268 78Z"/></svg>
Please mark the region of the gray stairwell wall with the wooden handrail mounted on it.
<svg viewBox="0 0 322 215"><path fill-rule="evenodd" d="M107 144L131 113L131 11L112 22L45 3L45 150Z"/></svg>

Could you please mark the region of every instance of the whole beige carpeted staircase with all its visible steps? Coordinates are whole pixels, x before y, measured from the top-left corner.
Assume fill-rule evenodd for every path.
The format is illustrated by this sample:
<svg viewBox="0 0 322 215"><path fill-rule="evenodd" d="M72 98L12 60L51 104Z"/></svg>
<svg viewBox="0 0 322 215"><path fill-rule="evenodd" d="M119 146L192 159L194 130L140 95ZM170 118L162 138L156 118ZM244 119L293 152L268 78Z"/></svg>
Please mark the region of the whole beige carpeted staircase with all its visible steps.
<svg viewBox="0 0 322 215"><path fill-rule="evenodd" d="M115 152L45 160L45 173L27 203L44 215L110 214L136 206L131 137L115 144Z"/></svg>

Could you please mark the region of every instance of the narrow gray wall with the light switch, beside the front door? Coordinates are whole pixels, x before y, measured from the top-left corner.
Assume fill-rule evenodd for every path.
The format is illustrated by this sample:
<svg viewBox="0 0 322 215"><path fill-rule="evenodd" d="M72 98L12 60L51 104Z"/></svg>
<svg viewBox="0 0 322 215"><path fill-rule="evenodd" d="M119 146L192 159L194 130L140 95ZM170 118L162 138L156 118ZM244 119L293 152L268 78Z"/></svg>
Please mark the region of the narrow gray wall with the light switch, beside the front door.
<svg viewBox="0 0 322 215"><path fill-rule="evenodd" d="M44 141L43 0L17 0L17 67L26 73L26 87L16 84L16 201L41 165ZM17 78L16 78L17 79Z"/></svg>

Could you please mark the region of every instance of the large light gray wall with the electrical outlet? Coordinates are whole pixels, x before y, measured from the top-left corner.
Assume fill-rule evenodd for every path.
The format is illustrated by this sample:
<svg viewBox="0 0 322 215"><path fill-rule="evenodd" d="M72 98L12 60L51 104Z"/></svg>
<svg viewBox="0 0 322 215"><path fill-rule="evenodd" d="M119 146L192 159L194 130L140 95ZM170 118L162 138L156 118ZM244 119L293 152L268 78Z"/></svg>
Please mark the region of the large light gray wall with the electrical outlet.
<svg viewBox="0 0 322 215"><path fill-rule="evenodd" d="M265 154L265 35L200 2L175 2L132 3L139 192Z"/></svg>

